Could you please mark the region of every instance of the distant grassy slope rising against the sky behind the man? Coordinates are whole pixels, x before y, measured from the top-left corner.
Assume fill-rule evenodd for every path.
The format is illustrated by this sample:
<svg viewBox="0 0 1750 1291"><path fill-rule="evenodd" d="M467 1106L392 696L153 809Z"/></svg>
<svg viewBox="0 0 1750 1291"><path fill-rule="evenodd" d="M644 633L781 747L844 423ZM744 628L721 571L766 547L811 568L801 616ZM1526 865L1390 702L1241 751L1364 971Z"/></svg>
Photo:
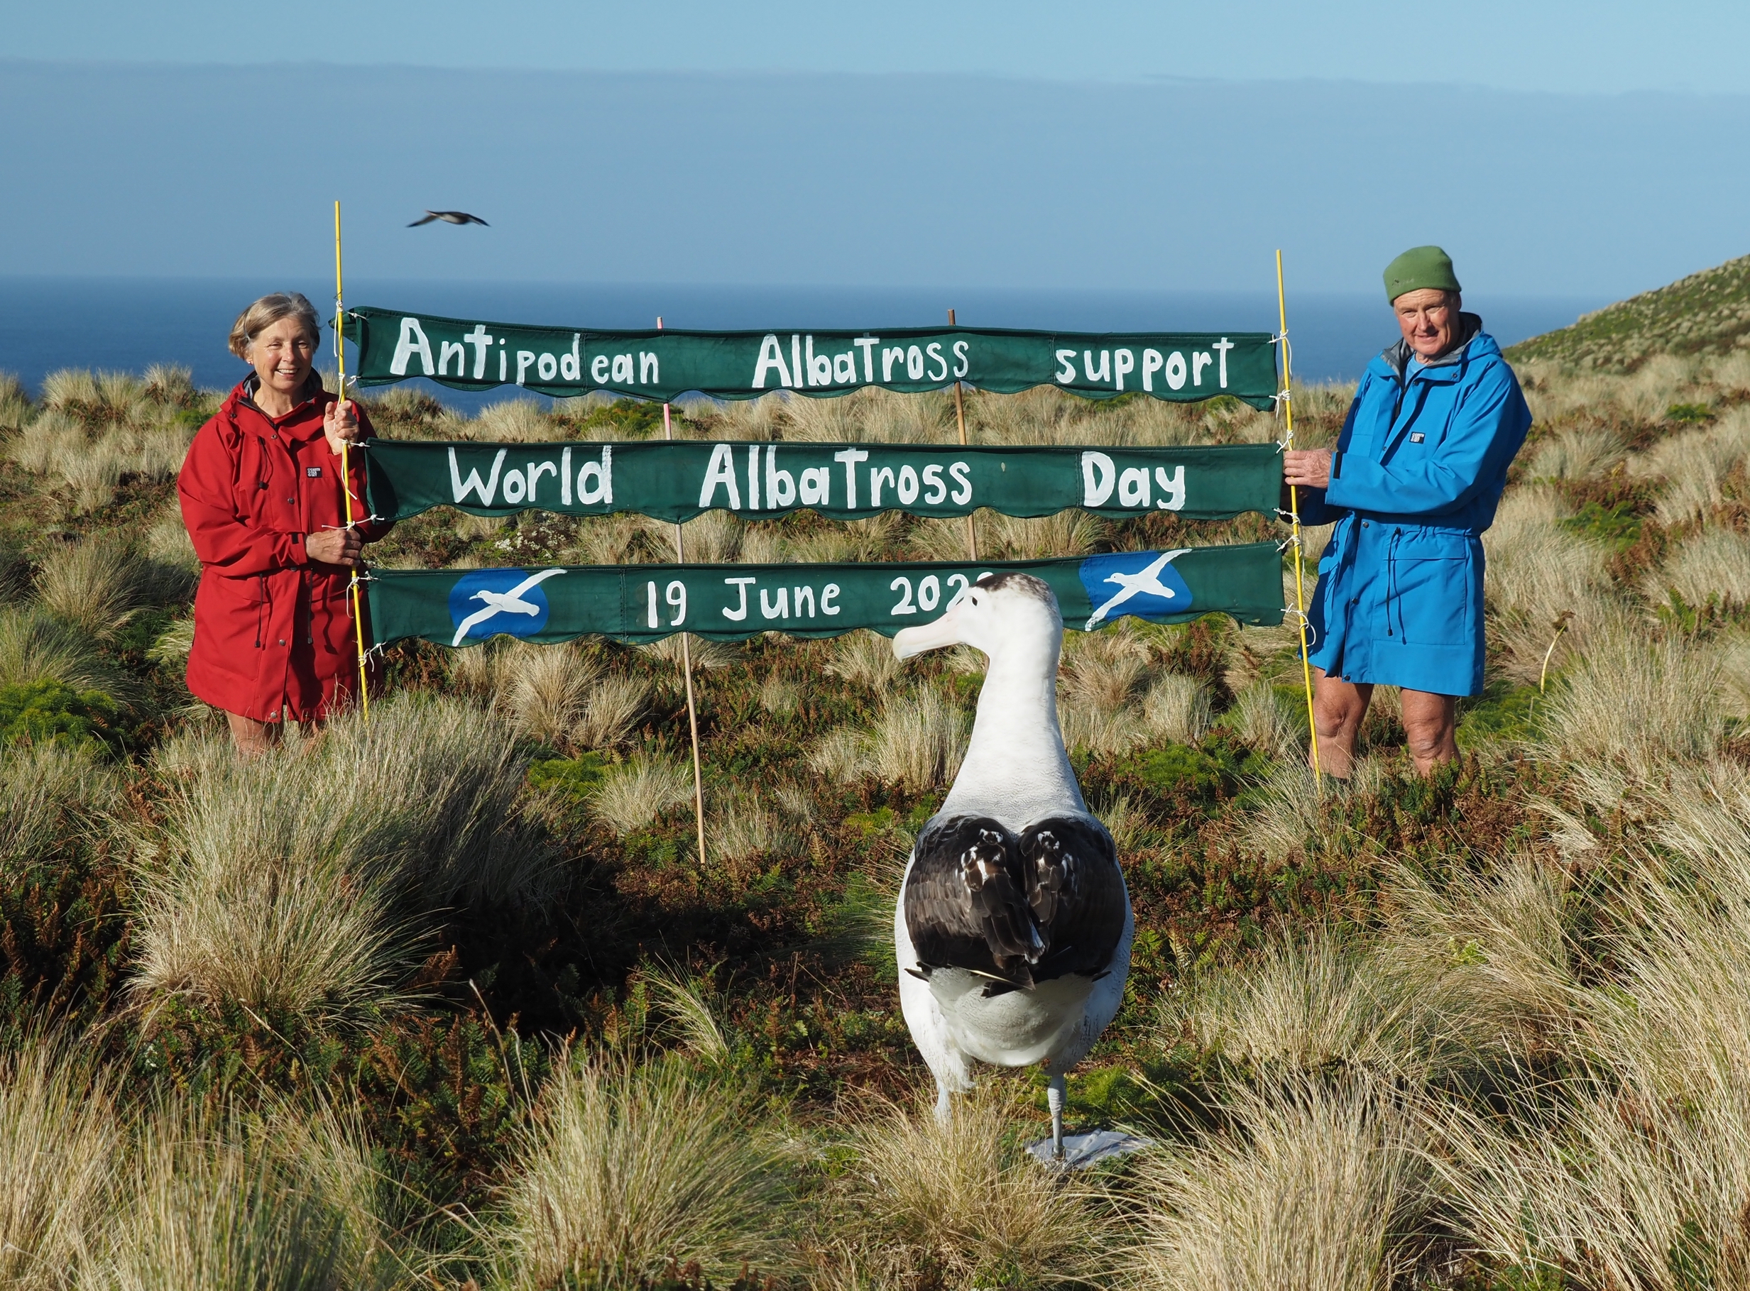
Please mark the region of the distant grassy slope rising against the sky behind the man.
<svg viewBox="0 0 1750 1291"><path fill-rule="evenodd" d="M1629 373L1659 353L1731 353L1750 345L1746 336L1750 255L1606 304L1572 327L1521 341L1507 357Z"/></svg>

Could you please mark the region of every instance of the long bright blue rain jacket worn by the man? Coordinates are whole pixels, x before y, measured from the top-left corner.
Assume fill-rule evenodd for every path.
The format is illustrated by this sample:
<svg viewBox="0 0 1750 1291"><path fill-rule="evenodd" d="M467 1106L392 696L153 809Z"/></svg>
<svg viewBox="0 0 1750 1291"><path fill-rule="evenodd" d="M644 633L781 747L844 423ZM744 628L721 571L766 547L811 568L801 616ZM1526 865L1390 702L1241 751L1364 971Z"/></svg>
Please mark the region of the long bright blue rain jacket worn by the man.
<svg viewBox="0 0 1750 1291"><path fill-rule="evenodd" d="M1482 691L1482 542L1531 429L1482 320L1433 364L1398 341L1367 366L1307 525L1337 523L1307 609L1312 666L1433 694Z"/></svg>

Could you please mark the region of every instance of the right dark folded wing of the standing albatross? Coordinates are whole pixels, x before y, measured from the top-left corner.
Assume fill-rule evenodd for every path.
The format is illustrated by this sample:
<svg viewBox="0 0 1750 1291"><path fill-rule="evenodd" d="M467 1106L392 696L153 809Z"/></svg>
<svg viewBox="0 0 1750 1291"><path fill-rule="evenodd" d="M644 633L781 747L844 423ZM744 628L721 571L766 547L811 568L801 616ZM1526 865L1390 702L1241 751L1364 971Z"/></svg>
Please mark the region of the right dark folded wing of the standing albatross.
<svg viewBox="0 0 1750 1291"><path fill-rule="evenodd" d="M1020 834L1027 906L1050 952L1034 981L1097 976L1124 936L1125 894L1111 834L1082 817L1048 817Z"/></svg>

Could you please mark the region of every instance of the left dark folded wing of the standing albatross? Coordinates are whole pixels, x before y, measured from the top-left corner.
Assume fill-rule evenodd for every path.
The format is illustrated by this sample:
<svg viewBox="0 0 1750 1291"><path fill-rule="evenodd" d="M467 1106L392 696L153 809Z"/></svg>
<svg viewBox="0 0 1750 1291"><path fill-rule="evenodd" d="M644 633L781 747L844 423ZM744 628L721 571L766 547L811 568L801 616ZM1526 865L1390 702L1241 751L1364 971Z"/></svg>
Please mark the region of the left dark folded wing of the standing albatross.
<svg viewBox="0 0 1750 1291"><path fill-rule="evenodd" d="M956 815L926 826L901 899L926 971L959 967L1032 985L1046 945L1027 904L1020 840L996 820Z"/></svg>

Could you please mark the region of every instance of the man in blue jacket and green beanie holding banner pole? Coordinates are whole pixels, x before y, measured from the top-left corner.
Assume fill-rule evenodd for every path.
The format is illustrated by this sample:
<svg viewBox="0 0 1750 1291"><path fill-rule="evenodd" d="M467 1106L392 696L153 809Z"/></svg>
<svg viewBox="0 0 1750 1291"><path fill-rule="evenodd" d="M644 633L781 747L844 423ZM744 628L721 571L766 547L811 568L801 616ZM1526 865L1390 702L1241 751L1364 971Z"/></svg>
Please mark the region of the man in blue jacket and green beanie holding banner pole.
<svg viewBox="0 0 1750 1291"><path fill-rule="evenodd" d="M1418 771L1458 757L1458 696L1482 691L1479 534L1531 429L1444 250L1391 261L1386 297L1404 338L1367 366L1337 448L1283 455L1302 523L1337 525L1307 611L1320 763L1337 777L1374 686L1404 687Z"/></svg>

